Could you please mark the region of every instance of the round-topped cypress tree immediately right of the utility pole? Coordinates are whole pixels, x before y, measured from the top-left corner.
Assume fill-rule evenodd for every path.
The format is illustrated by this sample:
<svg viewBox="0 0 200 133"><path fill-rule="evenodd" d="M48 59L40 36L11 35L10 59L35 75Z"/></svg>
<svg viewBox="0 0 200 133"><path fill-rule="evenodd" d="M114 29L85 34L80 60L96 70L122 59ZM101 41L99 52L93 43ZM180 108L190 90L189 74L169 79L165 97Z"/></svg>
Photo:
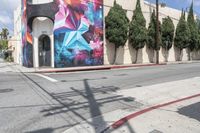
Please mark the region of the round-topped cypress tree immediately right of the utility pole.
<svg viewBox="0 0 200 133"><path fill-rule="evenodd" d="M163 19L162 23L162 47L168 51L172 47L173 38L174 38L174 24L172 19L168 16ZM167 61L167 57L166 57Z"/></svg>

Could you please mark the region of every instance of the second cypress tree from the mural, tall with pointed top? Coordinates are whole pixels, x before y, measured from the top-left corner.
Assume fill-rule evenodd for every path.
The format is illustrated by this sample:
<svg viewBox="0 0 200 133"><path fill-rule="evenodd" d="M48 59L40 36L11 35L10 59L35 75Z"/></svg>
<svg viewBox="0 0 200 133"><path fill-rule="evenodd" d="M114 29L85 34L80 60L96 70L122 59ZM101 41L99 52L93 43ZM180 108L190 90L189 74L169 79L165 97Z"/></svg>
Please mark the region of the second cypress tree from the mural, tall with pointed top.
<svg viewBox="0 0 200 133"><path fill-rule="evenodd" d="M136 60L134 63L137 63L138 50L145 46L146 41L146 20L142 14L140 0L137 0L136 9L133 12L132 21L129 25L129 43L136 50Z"/></svg>

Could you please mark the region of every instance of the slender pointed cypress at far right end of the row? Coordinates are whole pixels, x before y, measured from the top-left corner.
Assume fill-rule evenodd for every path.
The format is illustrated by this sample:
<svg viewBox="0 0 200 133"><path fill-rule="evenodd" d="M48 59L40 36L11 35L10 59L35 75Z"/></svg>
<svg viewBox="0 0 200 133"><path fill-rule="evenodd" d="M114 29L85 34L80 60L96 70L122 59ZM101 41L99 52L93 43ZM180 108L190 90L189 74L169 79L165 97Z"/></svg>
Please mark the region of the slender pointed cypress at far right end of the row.
<svg viewBox="0 0 200 133"><path fill-rule="evenodd" d="M188 53L189 53L188 60L191 60L190 52L197 49L197 47L198 47L198 29L197 29L197 23L195 22L195 19L194 19L193 2L190 6L187 23L188 23L188 26L190 29L190 42L189 42L189 46L188 46Z"/></svg>

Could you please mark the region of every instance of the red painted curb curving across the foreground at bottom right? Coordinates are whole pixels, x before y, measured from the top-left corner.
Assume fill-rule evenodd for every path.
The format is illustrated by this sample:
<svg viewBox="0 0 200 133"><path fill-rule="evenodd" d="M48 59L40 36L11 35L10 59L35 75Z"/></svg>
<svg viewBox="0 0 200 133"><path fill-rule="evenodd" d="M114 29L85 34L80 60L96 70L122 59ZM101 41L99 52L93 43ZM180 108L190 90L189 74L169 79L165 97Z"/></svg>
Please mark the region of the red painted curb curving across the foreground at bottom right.
<svg viewBox="0 0 200 133"><path fill-rule="evenodd" d="M138 111L136 113L128 115L128 116L120 119L119 121L116 121L110 127L113 128L113 129L117 129L117 128L121 127L123 124L125 124L127 121L129 121L130 119L133 119L133 118L135 118L139 115L142 115L144 113L147 113L147 112L150 112L152 110L155 110L155 109L158 109L158 108L161 108L161 107L165 107L165 106L168 106L168 105L171 105L171 104L175 104L175 103L178 103L178 102L182 102L182 101L186 101L186 100L189 100L189 99L192 99L192 98L196 98L196 97L199 97L199 96L200 96L200 94L196 94L196 95L192 95L192 96L185 97L185 98L182 98L182 99L178 99L178 100L175 100L175 101L171 101L171 102L167 102L167 103L164 103L164 104L159 104L159 105L155 105L155 106L143 109L141 111ZM108 127L107 129L109 129L110 127Z"/></svg>

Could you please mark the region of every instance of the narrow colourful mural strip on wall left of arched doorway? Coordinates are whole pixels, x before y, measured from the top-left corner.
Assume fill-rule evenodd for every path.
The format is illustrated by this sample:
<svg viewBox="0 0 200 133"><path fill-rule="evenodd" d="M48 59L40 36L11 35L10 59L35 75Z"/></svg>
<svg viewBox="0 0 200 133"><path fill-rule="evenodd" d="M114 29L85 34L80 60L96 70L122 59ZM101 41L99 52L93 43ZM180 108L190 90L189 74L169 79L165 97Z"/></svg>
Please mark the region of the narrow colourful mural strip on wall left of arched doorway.
<svg viewBox="0 0 200 133"><path fill-rule="evenodd" d="M33 67L33 41L30 28L27 24L27 0L22 0L22 51L23 65Z"/></svg>

